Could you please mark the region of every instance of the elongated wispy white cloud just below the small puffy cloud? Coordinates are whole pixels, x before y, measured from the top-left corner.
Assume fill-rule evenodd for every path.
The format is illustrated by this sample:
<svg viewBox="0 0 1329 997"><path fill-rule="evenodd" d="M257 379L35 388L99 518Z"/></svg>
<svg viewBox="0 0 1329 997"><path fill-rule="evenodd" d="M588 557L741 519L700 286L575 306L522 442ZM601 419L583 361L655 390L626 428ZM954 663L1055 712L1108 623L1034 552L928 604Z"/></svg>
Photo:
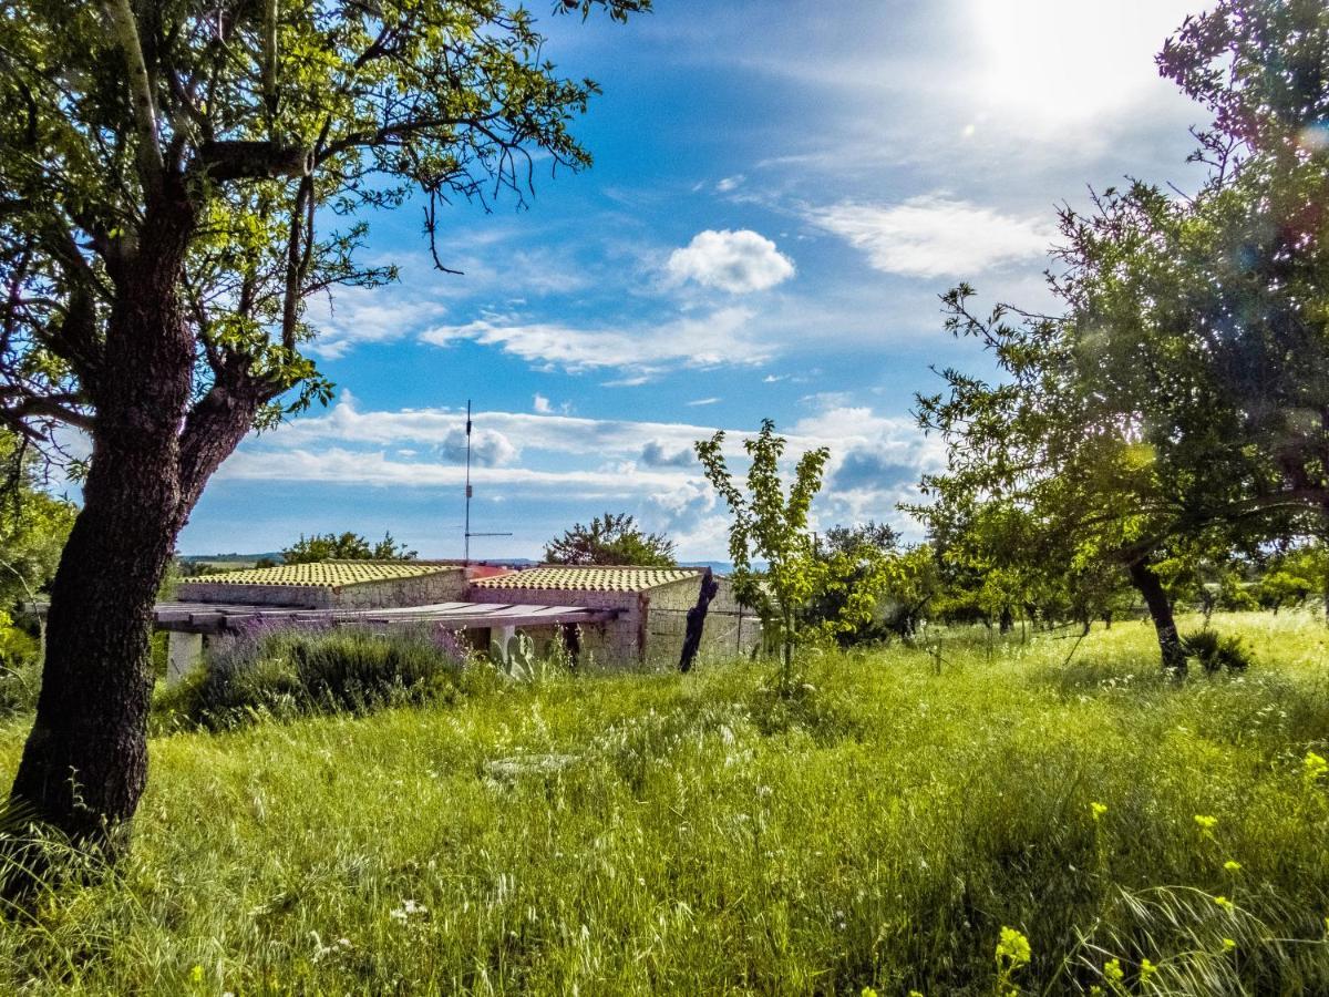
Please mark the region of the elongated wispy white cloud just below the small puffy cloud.
<svg viewBox="0 0 1329 997"><path fill-rule="evenodd" d="M675 367L768 360L772 347L759 342L748 328L752 316L748 308L728 307L699 316L683 315L655 326L623 328L480 319L465 326L437 326L421 332L420 339L435 346L459 340L496 346L522 360L571 372L617 367L649 374Z"/></svg>

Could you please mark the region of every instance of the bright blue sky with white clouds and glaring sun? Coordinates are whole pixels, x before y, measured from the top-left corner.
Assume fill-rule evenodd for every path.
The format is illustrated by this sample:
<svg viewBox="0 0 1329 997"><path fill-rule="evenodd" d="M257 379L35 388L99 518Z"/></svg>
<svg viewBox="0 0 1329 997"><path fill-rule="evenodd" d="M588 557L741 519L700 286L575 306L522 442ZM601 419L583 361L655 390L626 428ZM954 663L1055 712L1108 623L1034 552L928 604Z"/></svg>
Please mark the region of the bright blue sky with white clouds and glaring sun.
<svg viewBox="0 0 1329 997"><path fill-rule="evenodd" d="M549 4L552 7L552 4ZM537 171L529 210L459 205L431 269L420 214L373 217L403 280L311 318L338 397L242 444L179 540L276 549L391 530L461 554L476 408L474 557L538 557L626 510L687 560L724 557L691 443L763 417L832 448L820 528L896 510L941 459L914 429L930 367L985 371L942 330L961 279L1046 303L1055 207L1124 175L1181 187L1197 109L1160 80L1177 0L657 0L629 25L545 17L548 55L603 86L595 166ZM537 0L536 12L546 5ZM545 164L548 165L548 164ZM541 175L542 174L542 175Z"/></svg>

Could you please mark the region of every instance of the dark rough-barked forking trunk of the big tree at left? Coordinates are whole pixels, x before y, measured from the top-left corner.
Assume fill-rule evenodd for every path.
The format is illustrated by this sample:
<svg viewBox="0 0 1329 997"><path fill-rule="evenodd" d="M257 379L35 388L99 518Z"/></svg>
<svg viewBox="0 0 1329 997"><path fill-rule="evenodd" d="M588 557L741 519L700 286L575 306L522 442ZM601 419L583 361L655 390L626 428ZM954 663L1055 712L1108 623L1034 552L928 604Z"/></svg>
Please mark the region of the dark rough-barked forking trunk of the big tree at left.
<svg viewBox="0 0 1329 997"><path fill-rule="evenodd" d="M256 393L222 388L191 399L195 339L177 286L194 211L175 190L148 221L152 235L110 273L117 296L88 386L97 417L84 504L51 586L41 693L9 810L108 857L148 779L153 601L203 484L258 405ZM21 843L9 852L29 865L5 877L13 896L44 860Z"/></svg>

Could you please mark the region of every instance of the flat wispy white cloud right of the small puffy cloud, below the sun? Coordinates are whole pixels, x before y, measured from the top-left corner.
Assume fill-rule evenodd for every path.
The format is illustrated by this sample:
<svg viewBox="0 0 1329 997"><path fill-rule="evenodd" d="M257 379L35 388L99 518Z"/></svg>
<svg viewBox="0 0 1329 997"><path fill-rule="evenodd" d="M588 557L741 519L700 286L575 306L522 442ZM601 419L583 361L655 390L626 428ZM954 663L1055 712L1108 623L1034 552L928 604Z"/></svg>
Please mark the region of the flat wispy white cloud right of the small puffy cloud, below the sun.
<svg viewBox="0 0 1329 997"><path fill-rule="evenodd" d="M1054 233L1041 219L1017 218L940 194L897 205L843 201L809 221L868 254L873 267L906 277L960 277L1047 251Z"/></svg>

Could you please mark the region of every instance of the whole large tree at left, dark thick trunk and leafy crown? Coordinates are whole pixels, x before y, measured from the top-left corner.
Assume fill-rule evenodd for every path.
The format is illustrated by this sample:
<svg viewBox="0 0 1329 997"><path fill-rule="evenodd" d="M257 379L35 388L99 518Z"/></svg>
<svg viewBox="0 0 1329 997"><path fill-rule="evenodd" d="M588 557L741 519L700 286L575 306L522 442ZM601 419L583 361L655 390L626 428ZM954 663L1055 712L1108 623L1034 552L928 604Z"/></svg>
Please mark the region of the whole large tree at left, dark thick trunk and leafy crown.
<svg viewBox="0 0 1329 997"><path fill-rule="evenodd" d="M98 845L133 815L175 536L251 428L328 397L310 298L396 277L360 213L419 205L443 267L449 199L590 164L595 85L542 41L504 0L0 3L0 424L90 440L24 814Z"/></svg>

